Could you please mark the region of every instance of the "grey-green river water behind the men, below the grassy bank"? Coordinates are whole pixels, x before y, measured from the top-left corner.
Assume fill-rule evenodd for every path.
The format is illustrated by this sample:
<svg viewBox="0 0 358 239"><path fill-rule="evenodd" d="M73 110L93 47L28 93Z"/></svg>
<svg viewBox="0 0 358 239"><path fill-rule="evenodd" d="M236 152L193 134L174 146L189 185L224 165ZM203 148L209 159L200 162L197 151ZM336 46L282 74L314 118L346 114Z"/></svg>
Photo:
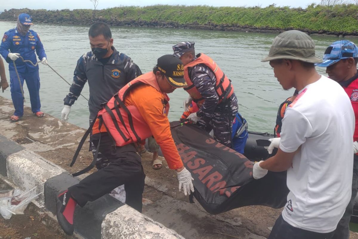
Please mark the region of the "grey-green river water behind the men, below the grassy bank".
<svg viewBox="0 0 358 239"><path fill-rule="evenodd" d="M0 34L14 28L15 22L0 22ZM36 24L32 27L42 40L48 63L70 83L76 62L82 54L90 51L88 26ZM171 54L171 46L181 41L194 41L195 51L203 52L214 59L232 80L239 102L239 112L248 121L249 130L273 132L277 108L293 89L284 91L274 77L269 63L261 62L270 49L276 34L224 32L210 30L168 29L168 28L129 28L111 27L113 45L119 52L130 56L142 72L153 69L156 59ZM326 47L338 40L337 37L313 36L316 55L323 57ZM357 39L352 39L358 43ZM8 69L6 63L5 68ZM325 74L324 68L318 68ZM6 72L9 80L9 72ZM57 118L61 117L63 98L69 86L49 67L40 64L42 110ZM26 105L30 99L24 86ZM82 94L88 96L88 85ZM10 88L1 96L11 99ZM169 120L178 120L183 112L183 100L187 93L178 89L170 97ZM88 128L88 105L79 97L72 106L69 122Z"/></svg>

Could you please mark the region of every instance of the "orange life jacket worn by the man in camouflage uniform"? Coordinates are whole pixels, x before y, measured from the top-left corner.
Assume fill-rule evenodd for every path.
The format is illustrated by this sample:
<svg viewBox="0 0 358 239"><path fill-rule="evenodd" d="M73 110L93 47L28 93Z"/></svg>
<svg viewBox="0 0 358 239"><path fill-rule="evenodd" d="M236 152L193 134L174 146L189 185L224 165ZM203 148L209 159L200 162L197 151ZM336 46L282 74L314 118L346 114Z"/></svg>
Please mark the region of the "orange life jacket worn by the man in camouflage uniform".
<svg viewBox="0 0 358 239"><path fill-rule="evenodd" d="M219 96L219 103L227 100L234 92L234 87L231 85L231 81L229 80L229 78L226 77L224 72L218 67L216 62L214 62L213 59L211 59L210 57L208 57L203 53L198 54L197 59L184 66L184 79L188 84L188 87L184 88L184 90L186 90L189 93L189 95L193 98L194 102L203 104L205 99L200 94L198 89L194 86L189 76L190 68L198 64L205 64L205 66L209 67L209 69L214 73L216 78L215 90Z"/></svg>

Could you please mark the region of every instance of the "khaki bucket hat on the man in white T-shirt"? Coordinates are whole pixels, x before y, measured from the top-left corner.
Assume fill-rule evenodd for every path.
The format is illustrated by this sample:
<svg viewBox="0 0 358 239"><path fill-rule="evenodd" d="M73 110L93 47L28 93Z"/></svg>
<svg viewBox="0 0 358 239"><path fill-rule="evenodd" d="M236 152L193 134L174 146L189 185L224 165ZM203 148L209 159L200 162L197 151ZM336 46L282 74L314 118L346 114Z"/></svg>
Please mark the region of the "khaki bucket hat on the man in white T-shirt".
<svg viewBox="0 0 358 239"><path fill-rule="evenodd" d="M275 37L270 48L269 56L261 61L273 61L277 59L292 59L309 63L321 63L322 60L315 56L315 44L313 39L304 32L290 30Z"/></svg>

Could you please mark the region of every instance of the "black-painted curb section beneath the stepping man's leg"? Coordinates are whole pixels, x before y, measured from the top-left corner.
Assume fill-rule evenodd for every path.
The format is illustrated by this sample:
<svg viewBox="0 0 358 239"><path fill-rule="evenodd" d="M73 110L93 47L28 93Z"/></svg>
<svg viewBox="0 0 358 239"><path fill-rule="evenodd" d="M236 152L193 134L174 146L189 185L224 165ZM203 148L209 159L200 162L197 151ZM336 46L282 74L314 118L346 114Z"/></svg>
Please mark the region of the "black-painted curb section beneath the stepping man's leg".
<svg viewBox="0 0 358 239"><path fill-rule="evenodd" d="M58 193L77 183L79 180L69 175L68 172L49 178L45 183L45 207L56 214ZM88 202L83 208L77 206L73 218L75 231L87 239L101 238L103 218L122 205L124 204L112 196L104 195L96 201Z"/></svg>

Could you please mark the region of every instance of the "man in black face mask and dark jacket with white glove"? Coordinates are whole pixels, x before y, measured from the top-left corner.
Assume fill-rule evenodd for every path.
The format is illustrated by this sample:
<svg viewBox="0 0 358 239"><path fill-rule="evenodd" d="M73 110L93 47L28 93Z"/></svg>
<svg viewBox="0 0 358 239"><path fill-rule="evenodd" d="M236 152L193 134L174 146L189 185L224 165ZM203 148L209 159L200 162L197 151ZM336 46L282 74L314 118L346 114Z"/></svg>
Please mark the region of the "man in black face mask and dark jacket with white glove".
<svg viewBox="0 0 358 239"><path fill-rule="evenodd" d="M124 53L113 47L111 29L106 23L96 22L88 31L89 44L92 51L81 56L74 70L73 83L69 93L64 98L61 118L68 119L71 106L81 94L84 84L89 85L89 123L95 119L101 104L106 103L126 83L130 82L142 72L139 67ZM95 148L91 143L92 153ZM102 162L99 153L97 162ZM98 164L96 165L99 167Z"/></svg>

